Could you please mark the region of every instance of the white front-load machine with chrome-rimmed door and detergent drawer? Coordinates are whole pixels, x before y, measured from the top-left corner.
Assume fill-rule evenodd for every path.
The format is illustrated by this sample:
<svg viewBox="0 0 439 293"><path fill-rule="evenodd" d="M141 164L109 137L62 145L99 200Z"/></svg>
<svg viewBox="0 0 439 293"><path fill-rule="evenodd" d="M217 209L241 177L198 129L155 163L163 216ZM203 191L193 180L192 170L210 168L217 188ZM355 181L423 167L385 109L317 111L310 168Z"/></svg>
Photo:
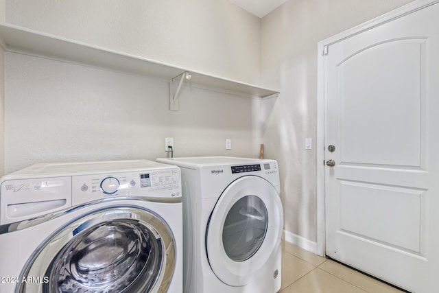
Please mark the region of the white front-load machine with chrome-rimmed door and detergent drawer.
<svg viewBox="0 0 439 293"><path fill-rule="evenodd" d="M0 292L182 292L178 167L36 164L0 185Z"/></svg>

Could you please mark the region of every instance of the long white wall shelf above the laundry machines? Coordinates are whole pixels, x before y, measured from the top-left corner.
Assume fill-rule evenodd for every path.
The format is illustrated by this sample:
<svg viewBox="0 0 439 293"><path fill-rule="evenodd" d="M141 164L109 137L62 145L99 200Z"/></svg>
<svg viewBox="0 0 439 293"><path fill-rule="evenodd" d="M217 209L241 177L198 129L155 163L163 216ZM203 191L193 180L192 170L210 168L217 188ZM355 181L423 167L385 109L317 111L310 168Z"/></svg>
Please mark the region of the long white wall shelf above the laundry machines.
<svg viewBox="0 0 439 293"><path fill-rule="evenodd" d="M257 97L267 97L278 93L278 91L273 89L265 89L253 84L220 78L215 75L176 67L163 62L80 43L60 36L29 30L9 23L0 23L0 42L5 51L21 54L148 75L169 81L181 73L189 71L192 75L191 82L214 89L244 93Z"/></svg>

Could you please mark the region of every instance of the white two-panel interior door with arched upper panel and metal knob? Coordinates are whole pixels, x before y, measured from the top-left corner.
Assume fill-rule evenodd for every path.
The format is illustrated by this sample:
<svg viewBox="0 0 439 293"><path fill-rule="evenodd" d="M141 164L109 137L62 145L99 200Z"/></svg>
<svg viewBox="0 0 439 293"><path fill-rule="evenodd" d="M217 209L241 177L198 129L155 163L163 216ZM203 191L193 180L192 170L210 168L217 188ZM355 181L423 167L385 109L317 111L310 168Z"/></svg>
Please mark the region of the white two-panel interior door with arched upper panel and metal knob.
<svg viewBox="0 0 439 293"><path fill-rule="evenodd" d="M326 254L435 292L439 3L329 45L324 58Z"/></svg>

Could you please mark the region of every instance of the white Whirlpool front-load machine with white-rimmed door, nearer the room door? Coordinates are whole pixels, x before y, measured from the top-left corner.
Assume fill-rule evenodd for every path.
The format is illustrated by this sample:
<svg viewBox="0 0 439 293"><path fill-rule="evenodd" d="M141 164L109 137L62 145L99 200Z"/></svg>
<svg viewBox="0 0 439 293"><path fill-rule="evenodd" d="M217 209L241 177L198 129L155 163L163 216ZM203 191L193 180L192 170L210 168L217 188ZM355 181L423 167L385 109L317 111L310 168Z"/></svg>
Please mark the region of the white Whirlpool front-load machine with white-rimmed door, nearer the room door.
<svg viewBox="0 0 439 293"><path fill-rule="evenodd" d="M157 161L182 172L184 292L277 292L283 229L277 162L221 156Z"/></svg>

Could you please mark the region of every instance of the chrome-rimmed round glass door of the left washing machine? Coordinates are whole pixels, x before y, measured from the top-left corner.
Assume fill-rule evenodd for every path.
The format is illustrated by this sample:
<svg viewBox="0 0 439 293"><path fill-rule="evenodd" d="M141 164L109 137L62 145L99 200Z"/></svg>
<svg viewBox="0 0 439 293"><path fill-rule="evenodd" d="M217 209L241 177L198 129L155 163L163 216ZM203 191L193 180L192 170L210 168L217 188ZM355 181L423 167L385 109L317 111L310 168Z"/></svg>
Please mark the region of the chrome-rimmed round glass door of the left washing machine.
<svg viewBox="0 0 439 293"><path fill-rule="evenodd" d="M45 281L23 283L19 292L165 292L174 257L173 237L158 215L112 207L50 237L23 274Z"/></svg>

